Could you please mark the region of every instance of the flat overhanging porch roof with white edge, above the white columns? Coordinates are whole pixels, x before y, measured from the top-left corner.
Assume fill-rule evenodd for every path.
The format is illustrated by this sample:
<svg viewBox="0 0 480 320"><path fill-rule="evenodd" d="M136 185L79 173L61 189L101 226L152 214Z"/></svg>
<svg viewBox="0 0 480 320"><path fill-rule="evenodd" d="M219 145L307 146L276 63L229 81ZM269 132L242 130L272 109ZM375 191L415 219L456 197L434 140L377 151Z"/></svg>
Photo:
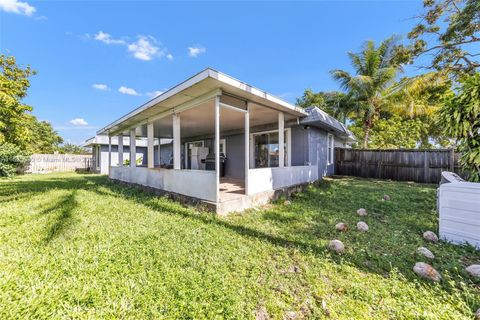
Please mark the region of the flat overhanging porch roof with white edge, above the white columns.
<svg viewBox="0 0 480 320"><path fill-rule="evenodd" d="M173 109L184 102L215 89L221 89L223 92L239 98L283 111L296 117L308 115L302 108L266 91L255 88L212 68L207 68L98 130L97 134L118 133L132 127L136 123L146 122L149 117Z"/></svg>

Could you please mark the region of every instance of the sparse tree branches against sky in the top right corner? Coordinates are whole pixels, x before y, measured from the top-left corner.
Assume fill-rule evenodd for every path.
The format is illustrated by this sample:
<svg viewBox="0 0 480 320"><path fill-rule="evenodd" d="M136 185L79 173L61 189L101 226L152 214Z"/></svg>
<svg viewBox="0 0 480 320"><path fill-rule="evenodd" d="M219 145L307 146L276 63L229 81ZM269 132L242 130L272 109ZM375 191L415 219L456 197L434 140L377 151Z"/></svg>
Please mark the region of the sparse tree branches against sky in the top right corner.
<svg viewBox="0 0 480 320"><path fill-rule="evenodd" d="M420 22L408 34L413 43L399 52L410 59L431 56L425 68L455 76L472 74L480 67L480 1L424 0Z"/></svg>

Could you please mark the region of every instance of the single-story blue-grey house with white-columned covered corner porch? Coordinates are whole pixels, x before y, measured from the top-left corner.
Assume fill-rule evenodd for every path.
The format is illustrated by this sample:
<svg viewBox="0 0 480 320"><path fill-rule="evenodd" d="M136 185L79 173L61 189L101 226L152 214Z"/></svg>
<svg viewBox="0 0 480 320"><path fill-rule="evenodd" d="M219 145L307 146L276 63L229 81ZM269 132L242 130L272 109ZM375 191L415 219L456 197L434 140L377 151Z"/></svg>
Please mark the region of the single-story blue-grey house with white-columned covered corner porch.
<svg viewBox="0 0 480 320"><path fill-rule="evenodd" d="M352 139L319 108L299 108L211 68L97 134L109 140L111 179L202 202L217 213L264 204L333 174L334 147ZM126 166L126 145L137 157L139 139L146 141L144 161Z"/></svg>

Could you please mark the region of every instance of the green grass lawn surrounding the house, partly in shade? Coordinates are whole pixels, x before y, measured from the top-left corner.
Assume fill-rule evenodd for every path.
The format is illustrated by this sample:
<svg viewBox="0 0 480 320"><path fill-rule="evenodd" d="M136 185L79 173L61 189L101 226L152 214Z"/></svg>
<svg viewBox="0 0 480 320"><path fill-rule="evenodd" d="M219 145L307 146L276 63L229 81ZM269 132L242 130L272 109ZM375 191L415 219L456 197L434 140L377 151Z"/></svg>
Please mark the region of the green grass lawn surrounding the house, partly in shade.
<svg viewBox="0 0 480 320"><path fill-rule="evenodd" d="M435 186L352 178L216 217L104 176L0 180L0 318L472 319L473 248L429 244ZM383 201L384 194L392 197ZM359 207L370 232L355 225ZM351 230L337 233L344 221ZM330 253L331 239L346 253ZM443 281L419 280L428 247Z"/></svg>

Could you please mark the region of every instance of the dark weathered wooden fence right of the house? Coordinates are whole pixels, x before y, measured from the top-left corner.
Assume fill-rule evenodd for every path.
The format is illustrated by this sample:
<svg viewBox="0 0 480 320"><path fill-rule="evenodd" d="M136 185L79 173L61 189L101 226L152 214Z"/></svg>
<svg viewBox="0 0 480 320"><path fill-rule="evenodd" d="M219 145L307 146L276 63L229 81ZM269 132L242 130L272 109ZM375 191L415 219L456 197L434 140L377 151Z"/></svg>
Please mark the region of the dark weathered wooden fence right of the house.
<svg viewBox="0 0 480 320"><path fill-rule="evenodd" d="M453 149L368 150L335 148L335 174L438 183L442 171L458 173Z"/></svg>

